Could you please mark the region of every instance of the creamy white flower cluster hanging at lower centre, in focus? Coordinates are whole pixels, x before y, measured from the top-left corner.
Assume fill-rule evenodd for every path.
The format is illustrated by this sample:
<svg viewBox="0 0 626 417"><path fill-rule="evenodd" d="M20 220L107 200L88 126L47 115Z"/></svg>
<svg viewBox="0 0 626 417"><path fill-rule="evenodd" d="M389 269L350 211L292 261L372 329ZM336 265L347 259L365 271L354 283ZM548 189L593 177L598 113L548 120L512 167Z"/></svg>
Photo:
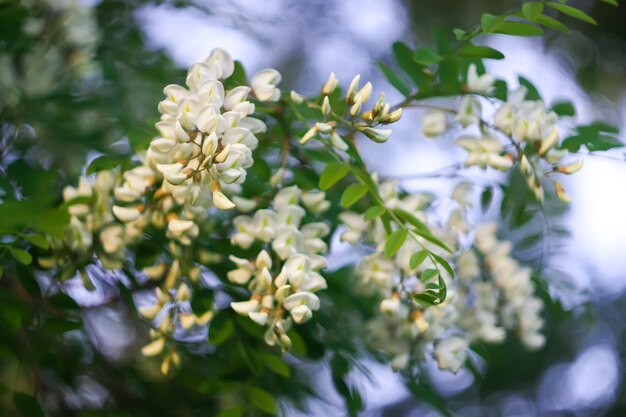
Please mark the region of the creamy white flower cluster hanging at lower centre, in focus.
<svg viewBox="0 0 626 417"><path fill-rule="evenodd" d="M302 204L302 205L301 205ZM253 260L231 256L237 265L228 279L246 285L251 292L247 301L232 302L231 307L261 326L267 326L265 341L291 347L287 336L292 321L309 320L319 309L315 294L326 288L319 270L327 265L322 254L328 251L323 238L330 232L326 223L303 223L305 206L312 213L328 208L324 193L304 193L297 187L280 190L271 209L257 210L254 216L235 218L236 231L231 242L248 249L260 243L262 249Z"/></svg>

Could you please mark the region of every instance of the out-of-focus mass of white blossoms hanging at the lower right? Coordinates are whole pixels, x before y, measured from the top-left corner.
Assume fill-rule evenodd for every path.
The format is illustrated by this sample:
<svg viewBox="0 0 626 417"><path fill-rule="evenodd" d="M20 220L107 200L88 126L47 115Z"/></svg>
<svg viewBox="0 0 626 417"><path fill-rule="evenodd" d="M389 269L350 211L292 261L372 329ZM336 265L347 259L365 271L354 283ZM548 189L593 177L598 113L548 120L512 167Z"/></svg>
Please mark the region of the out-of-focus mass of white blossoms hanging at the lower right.
<svg viewBox="0 0 626 417"><path fill-rule="evenodd" d="M386 190L385 201L393 207L400 202L404 210L410 210L426 223L427 218L421 211L425 206L424 196L408 195L398 199L392 183L383 183L381 189ZM447 232L436 232L457 251L459 238L469 231L466 219L469 192L467 183L455 188L452 199L458 208L450 214ZM373 348L390 355L394 369L405 368L411 364L411 358L421 360L430 353L440 369L456 372L465 363L470 343L501 343L506 331L516 332L528 348L542 346L543 322L539 312L543 303L534 295L531 271L520 267L510 256L509 242L496 239L495 224L480 227L475 237L476 248L456 258L458 280L453 282L449 276L441 277L448 284L446 300L424 308L411 295L428 288L429 281L424 283L417 277L435 265L426 258L412 270L409 260L421 247L432 252L437 248L429 246L428 242L418 245L407 239L390 259L381 253L385 233L380 220L364 222L360 214L351 212L340 217L348 226L341 235L342 240L353 244L363 241L377 247L360 262L358 274L382 299L383 314L368 324L368 341ZM481 260L484 268L481 268Z"/></svg>

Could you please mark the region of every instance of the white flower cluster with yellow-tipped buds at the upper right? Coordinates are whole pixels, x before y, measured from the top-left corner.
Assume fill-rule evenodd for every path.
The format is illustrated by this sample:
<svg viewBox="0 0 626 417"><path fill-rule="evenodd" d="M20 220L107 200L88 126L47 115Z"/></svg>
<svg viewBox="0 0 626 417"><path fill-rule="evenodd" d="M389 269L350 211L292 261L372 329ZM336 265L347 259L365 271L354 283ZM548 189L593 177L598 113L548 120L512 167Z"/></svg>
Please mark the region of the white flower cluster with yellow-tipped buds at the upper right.
<svg viewBox="0 0 626 417"><path fill-rule="evenodd" d="M467 75L468 93L489 94L493 89L494 77L490 74L477 75L476 68L470 66ZM542 201L544 190L542 180L552 182L556 195L564 202L570 198L563 186L554 181L543 164L548 164L548 174L559 172L571 174L578 170L581 162L560 166L568 155L567 150L557 149L559 144L558 117L541 100L527 100L528 89L520 86L509 92L508 99L496 109L491 123L482 118L481 100L476 95L465 95L461 99L456 116L463 127L477 125L479 136L463 135L456 143L468 152L465 166L509 170L515 161L535 197ZM445 119L440 111L431 112L422 119L423 131L428 136L436 136L445 130ZM500 141L506 137L506 146ZM527 144L531 146L526 146ZM543 162L542 162L543 161Z"/></svg>

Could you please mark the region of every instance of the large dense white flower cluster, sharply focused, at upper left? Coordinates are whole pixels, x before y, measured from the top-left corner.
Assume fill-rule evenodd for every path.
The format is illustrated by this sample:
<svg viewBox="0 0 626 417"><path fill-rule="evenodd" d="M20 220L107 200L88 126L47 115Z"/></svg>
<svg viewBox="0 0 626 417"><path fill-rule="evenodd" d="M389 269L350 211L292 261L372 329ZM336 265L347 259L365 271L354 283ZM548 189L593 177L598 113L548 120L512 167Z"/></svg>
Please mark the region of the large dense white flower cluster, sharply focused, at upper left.
<svg viewBox="0 0 626 417"><path fill-rule="evenodd" d="M225 90L223 81L234 69L232 58L214 49L204 62L189 68L188 89L165 87L166 98L159 103L161 120L156 124L161 136L150 143L143 165L125 172L115 189L119 204L113 212L119 220L165 221L167 236L189 245L198 236L198 222L206 218L208 208L235 207L222 189L236 190L245 181L258 144L255 134L266 130L261 120L250 116L255 106L248 95L252 91L257 100L278 99L280 90L275 85L280 74L262 70L253 76L252 88ZM156 182L160 188L147 195Z"/></svg>

